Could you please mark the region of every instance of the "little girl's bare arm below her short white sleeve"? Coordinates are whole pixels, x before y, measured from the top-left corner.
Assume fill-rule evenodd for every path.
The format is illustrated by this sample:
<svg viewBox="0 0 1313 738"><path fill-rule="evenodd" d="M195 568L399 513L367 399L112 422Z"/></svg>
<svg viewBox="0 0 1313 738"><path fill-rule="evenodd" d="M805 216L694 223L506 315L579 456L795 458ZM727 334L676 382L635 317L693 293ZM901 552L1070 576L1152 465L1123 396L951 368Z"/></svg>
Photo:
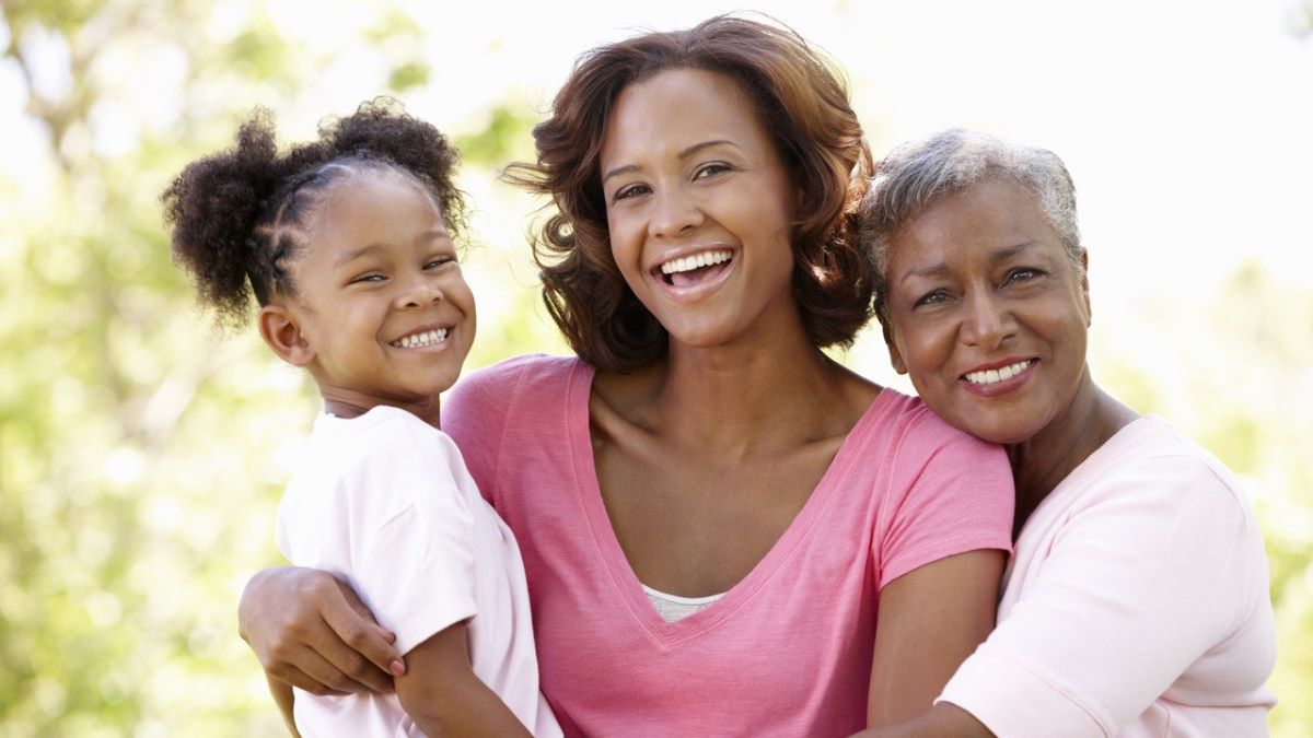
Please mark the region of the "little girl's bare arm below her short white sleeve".
<svg viewBox="0 0 1313 738"><path fill-rule="evenodd" d="M431 636L406 654L397 697L425 735L529 738L524 724L470 668L465 622Z"/></svg>

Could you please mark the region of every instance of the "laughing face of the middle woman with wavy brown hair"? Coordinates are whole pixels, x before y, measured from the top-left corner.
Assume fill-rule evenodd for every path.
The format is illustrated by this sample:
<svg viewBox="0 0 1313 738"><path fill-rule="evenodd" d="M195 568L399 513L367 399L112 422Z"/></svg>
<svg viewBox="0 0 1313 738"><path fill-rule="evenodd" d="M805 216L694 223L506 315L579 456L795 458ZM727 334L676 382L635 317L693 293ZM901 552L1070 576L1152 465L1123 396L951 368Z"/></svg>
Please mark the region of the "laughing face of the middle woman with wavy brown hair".
<svg viewBox="0 0 1313 738"><path fill-rule="evenodd" d="M626 87L603 138L601 177L616 264L672 341L721 345L801 326L798 192L737 81L668 70Z"/></svg>

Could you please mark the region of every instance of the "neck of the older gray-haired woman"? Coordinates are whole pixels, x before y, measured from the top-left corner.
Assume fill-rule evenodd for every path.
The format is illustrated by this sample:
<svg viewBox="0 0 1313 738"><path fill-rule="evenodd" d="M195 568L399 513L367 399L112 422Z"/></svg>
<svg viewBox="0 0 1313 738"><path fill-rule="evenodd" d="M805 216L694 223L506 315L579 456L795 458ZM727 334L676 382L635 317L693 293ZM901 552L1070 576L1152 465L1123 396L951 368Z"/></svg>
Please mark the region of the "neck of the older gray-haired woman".
<svg viewBox="0 0 1313 738"><path fill-rule="evenodd" d="M1136 418L1095 386L1086 366L1071 403L1040 432L1007 446L1016 481L1014 537L1062 479Z"/></svg>

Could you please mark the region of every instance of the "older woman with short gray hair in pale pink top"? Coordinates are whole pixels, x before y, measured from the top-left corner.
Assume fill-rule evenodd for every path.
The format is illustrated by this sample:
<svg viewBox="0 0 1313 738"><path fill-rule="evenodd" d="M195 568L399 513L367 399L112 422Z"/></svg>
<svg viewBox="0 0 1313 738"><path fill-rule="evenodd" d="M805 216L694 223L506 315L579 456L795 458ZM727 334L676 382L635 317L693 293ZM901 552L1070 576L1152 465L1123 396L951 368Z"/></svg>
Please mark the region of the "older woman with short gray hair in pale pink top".
<svg viewBox="0 0 1313 738"><path fill-rule="evenodd" d="M871 734L1267 734L1258 523L1212 454L1094 383L1062 162L949 130L890 154L863 210L894 368L1016 481L998 628L930 712Z"/></svg>

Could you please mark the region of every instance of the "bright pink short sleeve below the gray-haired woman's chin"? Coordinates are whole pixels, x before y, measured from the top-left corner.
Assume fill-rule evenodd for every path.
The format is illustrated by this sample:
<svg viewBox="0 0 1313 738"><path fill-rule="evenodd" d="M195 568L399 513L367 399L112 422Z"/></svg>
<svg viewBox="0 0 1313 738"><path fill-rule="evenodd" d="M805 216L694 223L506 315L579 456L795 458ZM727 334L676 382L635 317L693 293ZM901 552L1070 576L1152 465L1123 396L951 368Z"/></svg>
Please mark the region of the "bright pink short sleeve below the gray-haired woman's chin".
<svg viewBox="0 0 1313 738"><path fill-rule="evenodd" d="M892 515L878 546L880 587L960 553L1012 549L1012 470L1001 446L949 427L922 407L893 466Z"/></svg>

